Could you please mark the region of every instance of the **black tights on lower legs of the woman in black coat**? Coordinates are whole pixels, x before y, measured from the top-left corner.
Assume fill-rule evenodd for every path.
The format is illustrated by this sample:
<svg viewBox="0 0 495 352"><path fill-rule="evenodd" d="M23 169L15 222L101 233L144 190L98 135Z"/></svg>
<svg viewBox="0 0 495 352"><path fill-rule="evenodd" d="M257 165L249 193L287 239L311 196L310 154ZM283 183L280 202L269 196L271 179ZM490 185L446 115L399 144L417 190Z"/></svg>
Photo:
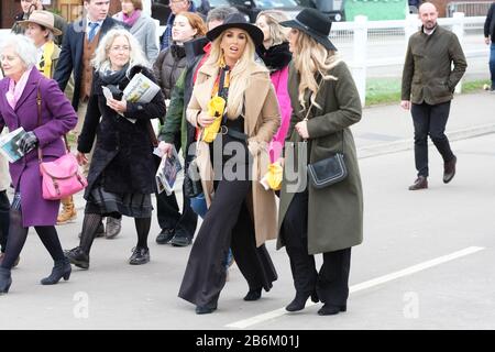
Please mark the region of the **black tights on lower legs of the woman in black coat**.
<svg viewBox="0 0 495 352"><path fill-rule="evenodd" d="M95 240L95 234L101 219L102 216L99 213L85 213L79 246L87 255L89 255L89 251L91 250L92 241ZM134 223L138 232L138 246L147 249L147 234L150 233L151 228L151 217L134 218Z"/></svg>

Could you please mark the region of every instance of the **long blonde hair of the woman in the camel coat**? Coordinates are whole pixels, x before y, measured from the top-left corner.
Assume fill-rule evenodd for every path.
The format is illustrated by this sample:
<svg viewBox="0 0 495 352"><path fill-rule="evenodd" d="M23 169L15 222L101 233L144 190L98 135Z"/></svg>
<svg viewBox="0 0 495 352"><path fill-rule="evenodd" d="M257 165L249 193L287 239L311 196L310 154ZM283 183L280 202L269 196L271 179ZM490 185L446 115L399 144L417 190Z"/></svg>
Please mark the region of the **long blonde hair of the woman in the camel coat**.
<svg viewBox="0 0 495 352"><path fill-rule="evenodd" d="M220 47L223 35L226 35L228 30L223 31L212 43L211 43L211 52L210 57L206 61L205 66L211 66L218 68L218 64L223 57L223 52ZM227 102L227 116L229 118L237 118L242 113L242 106L244 105L244 90L250 85L250 76L251 72L249 68L250 65L255 64L254 61L254 42L248 32L243 31L248 38L246 45L244 47L244 52L242 53L241 58L238 61L235 66L232 68L230 73L230 86L229 86L229 100ZM258 65L260 68L268 70L264 68L262 65Z"/></svg>

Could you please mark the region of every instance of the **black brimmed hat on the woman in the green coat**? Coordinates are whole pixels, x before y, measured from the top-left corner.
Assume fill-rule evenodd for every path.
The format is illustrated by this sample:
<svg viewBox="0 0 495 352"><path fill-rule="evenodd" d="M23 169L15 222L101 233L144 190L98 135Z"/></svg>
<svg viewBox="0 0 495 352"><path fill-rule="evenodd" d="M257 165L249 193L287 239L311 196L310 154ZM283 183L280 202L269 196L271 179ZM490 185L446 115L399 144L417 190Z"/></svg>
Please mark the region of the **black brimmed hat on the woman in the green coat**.
<svg viewBox="0 0 495 352"><path fill-rule="evenodd" d="M328 38L332 21L330 18L318 12L316 9L304 9L294 20L280 22L283 26L297 29L305 32L315 41L323 45L329 51L337 51L337 47Z"/></svg>

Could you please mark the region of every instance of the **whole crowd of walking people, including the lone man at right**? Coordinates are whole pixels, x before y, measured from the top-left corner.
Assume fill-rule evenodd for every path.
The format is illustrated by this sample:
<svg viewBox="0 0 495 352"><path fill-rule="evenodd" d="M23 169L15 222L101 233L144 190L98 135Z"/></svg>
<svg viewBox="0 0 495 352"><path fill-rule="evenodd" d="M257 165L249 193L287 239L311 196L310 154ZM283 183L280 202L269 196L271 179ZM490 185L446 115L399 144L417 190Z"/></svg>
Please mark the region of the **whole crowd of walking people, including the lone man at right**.
<svg viewBox="0 0 495 352"><path fill-rule="evenodd" d="M294 279L286 309L301 310L310 298L323 304L319 315L346 310L351 248L363 241L363 191L350 130L362 110L352 75L329 40L327 16L305 9L289 20L267 10L251 24L234 8L212 9L205 18L191 1L173 0L158 51L156 25L141 0L121 0L114 16L109 0L85 0L85 16L70 24L41 8L30 11L26 2L32 1L21 1L24 14L0 45L0 128L26 131L20 141L24 156L9 165L11 200L7 162L0 161L0 294L9 292L30 227L54 260L43 285L69 279L70 264L89 268L95 238L118 235L122 216L134 218L138 235L129 263L150 262L155 195L156 242L193 244L178 296L197 314L217 309L232 261L248 284L244 300L270 292L278 275L265 242L275 239L277 249L286 248ZM435 7L419 12L424 28L409 43L403 82L403 107L413 106L416 129L418 180L411 189L427 187L428 134L444 157L444 182L454 175L457 158L443 130L451 92L465 70L459 42L436 23ZM452 55L439 68L448 85L442 97L429 99L415 90L424 64L414 54L421 41L440 36L452 43L446 48ZM444 56L441 47L433 45L431 55ZM150 102L122 97L138 74L161 88ZM218 101L216 114L211 107ZM425 120L432 114L444 118L435 117L438 125ZM154 119L161 121L157 135ZM74 199L62 199L59 210L59 200L42 197L38 152L43 161L59 157L67 133L77 138L88 186L79 245L64 252L56 224L74 220ZM182 211L174 193L157 191L154 177L155 148L168 157L174 147L186 170ZM345 177L308 180L309 166L337 154L344 155ZM283 169L278 187L260 182L272 167ZM200 190L191 191L191 183ZM323 257L319 270L316 254Z"/></svg>

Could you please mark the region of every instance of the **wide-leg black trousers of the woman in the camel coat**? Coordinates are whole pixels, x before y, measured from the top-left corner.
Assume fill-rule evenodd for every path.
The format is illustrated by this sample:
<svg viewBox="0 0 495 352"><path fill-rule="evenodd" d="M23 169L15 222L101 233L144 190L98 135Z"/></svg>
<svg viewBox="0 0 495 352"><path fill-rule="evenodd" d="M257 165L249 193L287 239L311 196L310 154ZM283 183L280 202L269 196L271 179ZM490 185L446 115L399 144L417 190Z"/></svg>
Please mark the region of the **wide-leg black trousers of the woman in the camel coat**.
<svg viewBox="0 0 495 352"><path fill-rule="evenodd" d="M229 248L250 289L270 290L277 279L265 245L256 248L254 223L246 206L251 183L249 178L226 180L223 177L218 182L213 201L189 254L180 298L197 306L217 305L226 285Z"/></svg>

